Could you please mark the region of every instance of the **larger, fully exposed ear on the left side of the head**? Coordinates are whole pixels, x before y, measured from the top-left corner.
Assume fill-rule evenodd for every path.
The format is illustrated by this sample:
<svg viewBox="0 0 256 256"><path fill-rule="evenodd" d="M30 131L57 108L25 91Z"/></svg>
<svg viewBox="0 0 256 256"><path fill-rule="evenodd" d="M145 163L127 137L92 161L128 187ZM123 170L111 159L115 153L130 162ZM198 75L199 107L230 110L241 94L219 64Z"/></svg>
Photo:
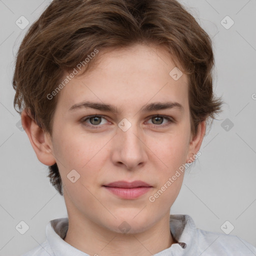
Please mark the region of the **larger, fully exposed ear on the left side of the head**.
<svg viewBox="0 0 256 256"><path fill-rule="evenodd" d="M48 166L54 164L56 161L52 153L50 135L44 132L25 110L21 112L21 123L38 160Z"/></svg>

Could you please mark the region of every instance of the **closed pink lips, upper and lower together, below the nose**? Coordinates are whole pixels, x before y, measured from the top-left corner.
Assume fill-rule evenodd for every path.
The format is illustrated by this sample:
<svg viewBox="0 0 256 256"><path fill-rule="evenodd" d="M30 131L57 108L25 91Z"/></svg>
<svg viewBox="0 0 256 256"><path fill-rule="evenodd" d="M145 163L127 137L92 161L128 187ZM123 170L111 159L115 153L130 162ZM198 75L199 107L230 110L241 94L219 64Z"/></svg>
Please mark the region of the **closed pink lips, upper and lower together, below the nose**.
<svg viewBox="0 0 256 256"><path fill-rule="evenodd" d="M108 191L124 199L135 199L152 188L152 186L141 180L133 182L115 181L103 186Z"/></svg>

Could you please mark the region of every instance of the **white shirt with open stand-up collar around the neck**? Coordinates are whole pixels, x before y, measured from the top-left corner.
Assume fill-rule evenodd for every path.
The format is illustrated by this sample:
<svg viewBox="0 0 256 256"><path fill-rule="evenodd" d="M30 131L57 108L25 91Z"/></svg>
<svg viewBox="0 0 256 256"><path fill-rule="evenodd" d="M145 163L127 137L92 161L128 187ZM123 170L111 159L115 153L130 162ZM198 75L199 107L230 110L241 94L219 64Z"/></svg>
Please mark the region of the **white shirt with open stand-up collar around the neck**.
<svg viewBox="0 0 256 256"><path fill-rule="evenodd" d="M256 256L252 244L236 235L196 228L189 215L170 215L169 225L178 243L154 256ZM21 256L89 256L63 240L67 228L67 217L50 220L46 225L46 240Z"/></svg>

